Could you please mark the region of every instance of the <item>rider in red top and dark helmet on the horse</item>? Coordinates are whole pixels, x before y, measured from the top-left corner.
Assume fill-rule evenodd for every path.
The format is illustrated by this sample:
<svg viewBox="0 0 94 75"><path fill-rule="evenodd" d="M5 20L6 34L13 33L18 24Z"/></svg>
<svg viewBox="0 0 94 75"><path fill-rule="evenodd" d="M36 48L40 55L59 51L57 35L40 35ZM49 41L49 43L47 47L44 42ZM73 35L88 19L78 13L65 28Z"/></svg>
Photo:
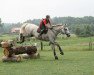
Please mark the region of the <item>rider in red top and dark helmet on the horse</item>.
<svg viewBox="0 0 94 75"><path fill-rule="evenodd" d="M39 36L41 36L43 33L46 33L47 30L48 30L48 25L51 26L51 22L50 22L50 16L49 15L46 15L46 18L45 19L42 19L42 21L40 22L40 34Z"/></svg>

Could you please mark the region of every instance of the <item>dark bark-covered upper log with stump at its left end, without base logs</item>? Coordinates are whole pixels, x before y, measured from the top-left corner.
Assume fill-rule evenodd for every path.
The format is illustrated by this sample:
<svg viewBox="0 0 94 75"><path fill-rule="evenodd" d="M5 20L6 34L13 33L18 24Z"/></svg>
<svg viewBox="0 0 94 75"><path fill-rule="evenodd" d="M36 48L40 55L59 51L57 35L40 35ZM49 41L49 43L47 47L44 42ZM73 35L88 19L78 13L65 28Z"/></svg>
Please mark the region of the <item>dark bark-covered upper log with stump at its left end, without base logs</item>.
<svg viewBox="0 0 94 75"><path fill-rule="evenodd" d="M7 57L11 57L13 55L24 54L28 55L35 54L37 52L36 46L18 46L11 47L8 42L3 42L2 47L4 48L4 55Z"/></svg>

